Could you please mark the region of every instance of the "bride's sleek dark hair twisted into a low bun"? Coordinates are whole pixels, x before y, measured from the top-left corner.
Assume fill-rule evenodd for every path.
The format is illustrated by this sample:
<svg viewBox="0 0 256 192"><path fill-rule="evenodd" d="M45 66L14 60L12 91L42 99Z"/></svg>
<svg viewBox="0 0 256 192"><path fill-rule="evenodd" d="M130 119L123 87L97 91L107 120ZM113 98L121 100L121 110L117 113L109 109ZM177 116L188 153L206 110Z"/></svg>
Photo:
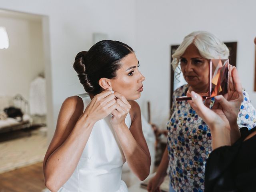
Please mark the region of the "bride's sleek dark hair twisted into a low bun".
<svg viewBox="0 0 256 192"><path fill-rule="evenodd" d="M130 46L112 40L100 41L90 50L79 52L73 64L84 90L88 93L98 94L101 90L100 78L113 79L120 60L134 52Z"/></svg>

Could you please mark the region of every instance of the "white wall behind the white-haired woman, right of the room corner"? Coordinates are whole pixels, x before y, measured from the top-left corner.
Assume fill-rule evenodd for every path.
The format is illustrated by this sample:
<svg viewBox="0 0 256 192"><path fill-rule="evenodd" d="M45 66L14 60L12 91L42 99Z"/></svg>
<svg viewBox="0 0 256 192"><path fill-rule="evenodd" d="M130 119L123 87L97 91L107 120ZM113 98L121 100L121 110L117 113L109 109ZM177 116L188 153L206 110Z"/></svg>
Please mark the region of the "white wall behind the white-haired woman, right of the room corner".
<svg viewBox="0 0 256 192"><path fill-rule="evenodd" d="M225 42L237 41L236 65L242 85L256 106L254 58L256 1L247 0L138 0L136 1L136 51L146 76L140 99L152 102L152 121L165 128L170 102L170 45L187 34L206 30Z"/></svg>

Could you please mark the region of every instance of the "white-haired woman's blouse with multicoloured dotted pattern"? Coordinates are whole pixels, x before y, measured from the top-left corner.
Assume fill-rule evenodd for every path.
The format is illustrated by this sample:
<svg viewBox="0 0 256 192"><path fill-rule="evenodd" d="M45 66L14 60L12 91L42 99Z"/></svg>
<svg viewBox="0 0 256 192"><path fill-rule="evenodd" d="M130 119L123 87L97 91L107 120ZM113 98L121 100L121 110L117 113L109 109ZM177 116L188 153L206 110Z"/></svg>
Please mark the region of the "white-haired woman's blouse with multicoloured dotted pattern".
<svg viewBox="0 0 256 192"><path fill-rule="evenodd" d="M211 147L211 133L206 123L191 108L187 101L176 101L185 96L188 85L174 91L171 118L167 123L169 175L176 192L203 192L204 171ZM238 113L240 128L256 126L256 111L244 90L244 100ZM214 104L214 98L210 108Z"/></svg>

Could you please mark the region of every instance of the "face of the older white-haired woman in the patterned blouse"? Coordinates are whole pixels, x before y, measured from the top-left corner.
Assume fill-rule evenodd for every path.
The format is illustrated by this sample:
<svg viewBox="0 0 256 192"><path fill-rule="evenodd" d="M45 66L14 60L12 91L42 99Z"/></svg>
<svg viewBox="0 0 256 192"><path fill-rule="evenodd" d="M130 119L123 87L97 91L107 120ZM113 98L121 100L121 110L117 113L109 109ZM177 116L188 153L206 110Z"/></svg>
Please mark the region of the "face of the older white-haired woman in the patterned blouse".
<svg viewBox="0 0 256 192"><path fill-rule="evenodd" d="M180 57L180 67L188 85L196 89L208 87L209 62L194 44L190 44Z"/></svg>

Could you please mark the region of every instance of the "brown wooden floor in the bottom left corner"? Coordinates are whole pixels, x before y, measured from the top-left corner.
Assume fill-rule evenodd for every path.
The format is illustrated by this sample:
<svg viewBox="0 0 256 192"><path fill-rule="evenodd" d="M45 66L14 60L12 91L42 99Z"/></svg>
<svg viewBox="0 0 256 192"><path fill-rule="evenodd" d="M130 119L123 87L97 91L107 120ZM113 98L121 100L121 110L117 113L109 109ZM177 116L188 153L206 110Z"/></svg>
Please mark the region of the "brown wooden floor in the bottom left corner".
<svg viewBox="0 0 256 192"><path fill-rule="evenodd" d="M0 174L0 192L41 192L44 186L43 163Z"/></svg>

